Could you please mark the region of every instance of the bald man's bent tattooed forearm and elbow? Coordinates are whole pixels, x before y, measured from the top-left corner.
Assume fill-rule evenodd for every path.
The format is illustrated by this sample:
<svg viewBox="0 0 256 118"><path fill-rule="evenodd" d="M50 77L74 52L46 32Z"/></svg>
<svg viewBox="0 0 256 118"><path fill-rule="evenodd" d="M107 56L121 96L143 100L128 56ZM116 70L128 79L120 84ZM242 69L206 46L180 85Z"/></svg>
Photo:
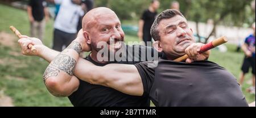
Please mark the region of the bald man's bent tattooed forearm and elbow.
<svg viewBox="0 0 256 118"><path fill-rule="evenodd" d="M44 72L43 80L52 95L66 96L63 95L63 93L58 92L58 88L55 90L55 86L49 87L48 85L51 84L47 84L47 79L55 79L55 81L58 82L57 84L60 86L67 85L67 82L72 82L71 78L81 50L81 45L73 41L67 49L63 50L63 52L56 56L48 65Z"/></svg>

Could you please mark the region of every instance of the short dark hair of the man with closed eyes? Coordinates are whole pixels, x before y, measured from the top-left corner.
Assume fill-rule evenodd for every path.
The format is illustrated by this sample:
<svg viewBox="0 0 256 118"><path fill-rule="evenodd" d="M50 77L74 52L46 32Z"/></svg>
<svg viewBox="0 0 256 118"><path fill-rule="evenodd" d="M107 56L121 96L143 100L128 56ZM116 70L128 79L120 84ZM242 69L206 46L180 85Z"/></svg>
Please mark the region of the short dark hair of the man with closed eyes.
<svg viewBox="0 0 256 118"><path fill-rule="evenodd" d="M150 30L151 36L155 41L160 40L158 26L159 26L159 23L161 22L161 20L170 19L176 15L180 15L180 16L184 17L179 10L175 10L175 9L164 10L156 17L154 23L151 26L151 30Z"/></svg>

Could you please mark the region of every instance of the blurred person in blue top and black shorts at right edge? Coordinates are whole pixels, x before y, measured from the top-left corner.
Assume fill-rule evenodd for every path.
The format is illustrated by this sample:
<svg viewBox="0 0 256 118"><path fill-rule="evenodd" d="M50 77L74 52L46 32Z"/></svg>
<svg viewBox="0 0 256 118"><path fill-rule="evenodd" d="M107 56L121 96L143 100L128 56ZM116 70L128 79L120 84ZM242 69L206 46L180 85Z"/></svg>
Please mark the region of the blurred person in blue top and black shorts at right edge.
<svg viewBox="0 0 256 118"><path fill-rule="evenodd" d="M240 77L240 85L242 86L245 74L249 72L249 68L252 68L252 81L253 86L247 89L251 94L255 94L255 23L251 26L254 33L246 37L245 43L242 45L242 50L245 53L245 58L242 64L242 74Z"/></svg>

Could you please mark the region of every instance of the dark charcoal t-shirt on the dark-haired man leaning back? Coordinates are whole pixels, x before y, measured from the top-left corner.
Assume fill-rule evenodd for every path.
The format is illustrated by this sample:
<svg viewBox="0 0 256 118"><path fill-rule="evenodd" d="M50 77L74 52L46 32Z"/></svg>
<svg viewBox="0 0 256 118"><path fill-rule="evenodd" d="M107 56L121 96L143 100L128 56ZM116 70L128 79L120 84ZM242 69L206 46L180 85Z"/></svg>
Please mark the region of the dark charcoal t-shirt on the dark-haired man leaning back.
<svg viewBox="0 0 256 118"><path fill-rule="evenodd" d="M210 61L192 64L159 59L135 64L141 75L144 96L155 106L248 106L236 78Z"/></svg>

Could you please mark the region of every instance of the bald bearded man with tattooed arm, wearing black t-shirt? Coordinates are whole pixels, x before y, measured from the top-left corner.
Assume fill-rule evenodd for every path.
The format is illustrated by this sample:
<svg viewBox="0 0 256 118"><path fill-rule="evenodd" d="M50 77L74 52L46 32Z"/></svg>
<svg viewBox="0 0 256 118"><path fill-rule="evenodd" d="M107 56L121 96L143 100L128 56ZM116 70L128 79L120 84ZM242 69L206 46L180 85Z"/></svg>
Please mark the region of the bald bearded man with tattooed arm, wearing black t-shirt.
<svg viewBox="0 0 256 118"><path fill-rule="evenodd" d="M98 49L96 48L97 43L100 41L108 42L110 40L109 39L110 36L115 36L115 40L123 41L123 37L125 34L122 31L121 23L118 17L115 15L115 13L112 10L107 9L105 7L99 7L89 11L84 16L83 23L84 23L83 26L85 29L84 32L87 32L87 33L84 34L83 31L80 31L80 33L78 34L78 38L82 37L84 43L85 41L86 43L91 43L90 46L88 46L90 47L88 50L91 50L92 53L85 59L88 60L89 62L92 62L93 65L104 66L110 63L136 64L138 62L148 61L147 58L143 59L144 57L143 54L145 54L144 52L148 52L151 54L156 52L156 50L152 49L151 47L145 47L143 45L126 46L127 48L123 50L127 54L125 57L125 60L100 62L96 58L97 52L98 52ZM83 35L85 35L86 37L89 37L89 39L85 40ZM42 42L40 42L39 39L25 38L25 39L20 39L19 43L20 45L28 45L31 43L31 41L34 44L34 47L36 48L37 51L36 53L29 52L27 47L24 46L22 47L22 50L24 51L23 53L26 55L40 56L45 60L47 60L48 62L51 62L59 54L59 52L45 47L42 44ZM133 52L133 50L129 50L129 49L133 49L133 50L138 49L139 51L135 53ZM63 56L63 55L60 54L60 56ZM130 59L131 61L129 61ZM57 64L57 63L60 64L60 62L62 62L61 60L68 61L69 59L63 57L63 58L60 58L60 60L53 60L52 62L54 64ZM80 60L84 60L84 58L80 58ZM73 64L73 63L70 63L70 64ZM68 96L73 106L104 106L104 107L108 107L108 106L148 107L150 106L150 100L148 99L147 96L144 97L144 96L127 95L117 90L114 90L113 88L92 85L89 82L81 81L81 79L78 79L80 75L77 75L77 77L72 76L72 78L68 78L68 79L61 77L61 79L58 79L59 82L55 81L57 79L51 79L51 78L46 79L47 77L51 77L51 75L55 75L56 74L55 72L56 72L55 68L51 68L49 71L46 71L46 73L44 74L45 83L48 90L51 92L51 94L55 96ZM51 75L47 76L49 73L51 73ZM127 77L127 79L129 78Z"/></svg>

